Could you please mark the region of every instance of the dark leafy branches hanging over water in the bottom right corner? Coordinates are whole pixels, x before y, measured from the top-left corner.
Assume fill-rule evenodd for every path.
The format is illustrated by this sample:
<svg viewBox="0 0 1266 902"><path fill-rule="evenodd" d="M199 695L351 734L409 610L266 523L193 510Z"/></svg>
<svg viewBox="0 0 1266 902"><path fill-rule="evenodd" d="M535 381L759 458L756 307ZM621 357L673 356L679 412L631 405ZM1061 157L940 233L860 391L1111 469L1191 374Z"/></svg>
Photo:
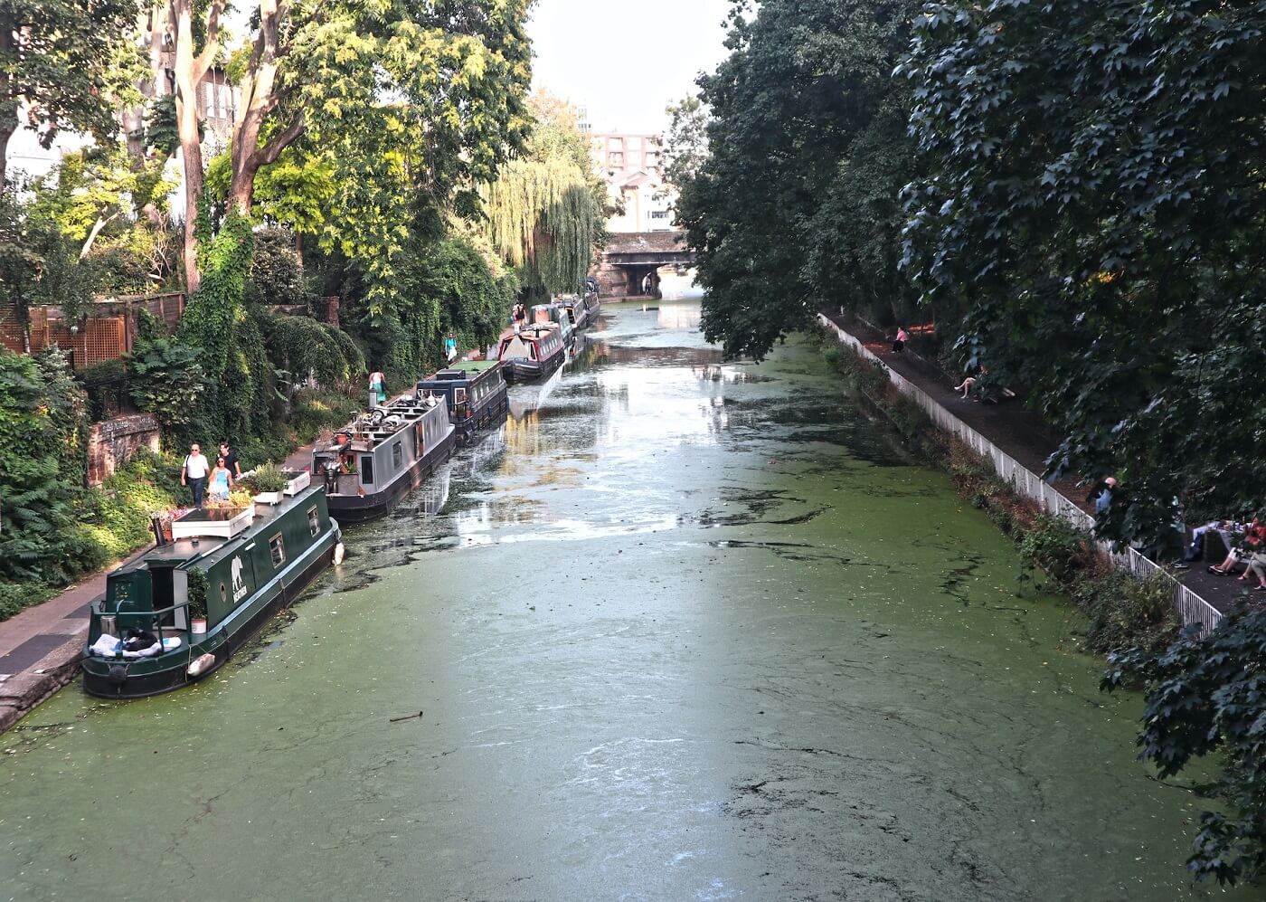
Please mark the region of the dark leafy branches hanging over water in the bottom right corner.
<svg viewBox="0 0 1266 902"><path fill-rule="evenodd" d="M1188 869L1219 883L1266 873L1266 609L1232 608L1208 638L1188 632L1160 655L1112 655L1104 688L1143 682L1139 758L1161 777L1217 755L1218 796L1234 812L1205 811Z"/></svg>

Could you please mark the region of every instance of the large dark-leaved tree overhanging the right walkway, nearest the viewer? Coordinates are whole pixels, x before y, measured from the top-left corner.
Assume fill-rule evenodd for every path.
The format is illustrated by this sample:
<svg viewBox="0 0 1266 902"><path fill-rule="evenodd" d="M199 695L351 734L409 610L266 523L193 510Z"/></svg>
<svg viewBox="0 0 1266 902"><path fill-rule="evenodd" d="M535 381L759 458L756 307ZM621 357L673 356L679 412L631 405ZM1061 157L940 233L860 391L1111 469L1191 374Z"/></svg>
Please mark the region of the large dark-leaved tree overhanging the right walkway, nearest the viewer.
<svg viewBox="0 0 1266 902"><path fill-rule="evenodd" d="M1122 478L1160 550L1257 508L1266 3L931 4L899 70L927 175L905 264L962 361L1031 388L1053 474Z"/></svg>

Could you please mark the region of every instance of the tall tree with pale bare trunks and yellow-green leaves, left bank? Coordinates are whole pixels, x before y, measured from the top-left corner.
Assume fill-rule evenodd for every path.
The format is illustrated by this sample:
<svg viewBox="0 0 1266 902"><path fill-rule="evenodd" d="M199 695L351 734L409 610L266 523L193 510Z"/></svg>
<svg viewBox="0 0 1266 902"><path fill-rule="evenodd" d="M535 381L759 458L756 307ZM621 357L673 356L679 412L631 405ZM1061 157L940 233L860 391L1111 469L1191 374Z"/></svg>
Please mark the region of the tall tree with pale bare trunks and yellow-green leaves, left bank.
<svg viewBox="0 0 1266 902"><path fill-rule="evenodd" d="M330 151L341 185L327 247L373 271L382 307L400 253L401 220L415 194L444 203L491 179L522 144L523 95L530 49L528 0L257 0L252 38L227 71L242 90L233 124L228 198L251 212L256 176L306 136ZM203 194L194 148L197 81L219 52L223 0L211 0L194 32L190 0L175 0L177 118L185 155L187 209ZM404 187L403 187L404 186ZM406 189L406 190L405 190ZM472 195L465 200L473 209ZM186 270L195 288L197 236L186 233Z"/></svg>

